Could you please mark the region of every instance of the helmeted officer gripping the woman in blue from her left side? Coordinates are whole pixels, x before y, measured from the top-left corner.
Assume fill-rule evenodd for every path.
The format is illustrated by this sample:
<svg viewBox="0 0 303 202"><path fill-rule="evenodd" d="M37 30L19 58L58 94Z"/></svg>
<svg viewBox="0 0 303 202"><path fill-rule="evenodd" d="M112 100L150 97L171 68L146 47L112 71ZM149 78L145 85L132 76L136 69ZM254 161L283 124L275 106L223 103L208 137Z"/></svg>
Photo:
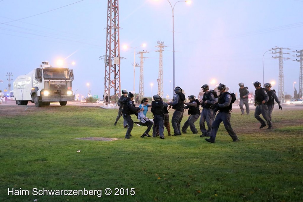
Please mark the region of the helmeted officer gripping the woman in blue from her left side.
<svg viewBox="0 0 303 202"><path fill-rule="evenodd" d="M132 132L132 128L134 126L134 122L131 118L131 114L135 114L135 113L139 113L140 111L143 111L144 108L142 107L142 109L140 109L139 107L136 107L135 104L133 103L134 100L134 95L129 92L127 94L127 97L125 97L124 99L122 99L122 104L123 104L123 109L122 109L122 116L123 119L126 121L127 123L127 130L126 130L126 134L125 134L125 138L129 139L131 136L131 132Z"/></svg>

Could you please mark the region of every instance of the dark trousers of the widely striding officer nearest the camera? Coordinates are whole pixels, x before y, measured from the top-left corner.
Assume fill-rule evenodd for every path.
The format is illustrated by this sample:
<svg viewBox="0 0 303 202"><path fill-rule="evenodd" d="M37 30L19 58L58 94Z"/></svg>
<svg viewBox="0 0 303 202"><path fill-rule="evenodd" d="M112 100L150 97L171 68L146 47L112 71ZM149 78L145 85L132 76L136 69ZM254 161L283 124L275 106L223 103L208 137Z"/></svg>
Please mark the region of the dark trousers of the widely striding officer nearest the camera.
<svg viewBox="0 0 303 202"><path fill-rule="evenodd" d="M238 139L235 131L231 128L230 125L230 117L231 114L230 113L226 113L226 112L219 112L215 118L215 121L212 123L212 129L211 129L211 136L210 139L215 141L216 139L216 135L220 126L220 123L223 121L224 127L227 130L229 136L231 136L231 138L233 140Z"/></svg>

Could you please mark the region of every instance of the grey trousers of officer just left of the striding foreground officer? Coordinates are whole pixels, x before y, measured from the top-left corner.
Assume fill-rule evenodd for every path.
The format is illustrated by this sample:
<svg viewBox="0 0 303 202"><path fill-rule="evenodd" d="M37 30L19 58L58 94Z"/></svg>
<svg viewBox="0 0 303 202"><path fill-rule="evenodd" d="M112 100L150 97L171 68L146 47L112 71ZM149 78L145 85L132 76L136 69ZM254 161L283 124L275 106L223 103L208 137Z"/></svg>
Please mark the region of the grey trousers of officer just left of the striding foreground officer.
<svg viewBox="0 0 303 202"><path fill-rule="evenodd" d="M202 135L210 136L211 134L211 124L215 120L214 111L211 108L203 108L200 117L200 130ZM207 130L205 128L205 121L207 123Z"/></svg>

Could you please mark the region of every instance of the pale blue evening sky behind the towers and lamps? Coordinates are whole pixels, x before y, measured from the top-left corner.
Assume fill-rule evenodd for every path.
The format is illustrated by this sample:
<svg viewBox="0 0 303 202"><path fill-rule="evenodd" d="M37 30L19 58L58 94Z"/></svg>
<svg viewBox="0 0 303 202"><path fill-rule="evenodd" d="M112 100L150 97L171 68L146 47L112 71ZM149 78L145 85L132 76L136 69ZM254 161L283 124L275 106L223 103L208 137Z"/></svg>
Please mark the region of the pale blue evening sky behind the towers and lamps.
<svg viewBox="0 0 303 202"><path fill-rule="evenodd" d="M292 51L303 49L303 0L170 0L174 7L175 84L186 96L204 84L219 83L238 93L243 82L273 84L278 93L279 60L271 48L285 48L284 92L299 86L299 62ZM178 3L176 3L178 2ZM175 4L176 3L176 4ZM101 98L104 94L107 0L0 0L0 90L17 76L38 68L42 61L74 70L73 92ZM168 0L120 0L121 89L133 90L134 49L144 54L144 94L157 94L159 52L163 53L164 96L173 95L172 9ZM141 47L143 43L146 47ZM268 51L268 52L266 52ZM264 58L263 58L264 55ZM140 62L136 54L136 63ZM72 65L75 62L75 65ZM215 80L215 82L213 81ZM296 82L296 83L294 83ZM87 85L89 83L89 86ZM153 86L151 86L153 83ZM139 92L139 67L135 69L135 92Z"/></svg>

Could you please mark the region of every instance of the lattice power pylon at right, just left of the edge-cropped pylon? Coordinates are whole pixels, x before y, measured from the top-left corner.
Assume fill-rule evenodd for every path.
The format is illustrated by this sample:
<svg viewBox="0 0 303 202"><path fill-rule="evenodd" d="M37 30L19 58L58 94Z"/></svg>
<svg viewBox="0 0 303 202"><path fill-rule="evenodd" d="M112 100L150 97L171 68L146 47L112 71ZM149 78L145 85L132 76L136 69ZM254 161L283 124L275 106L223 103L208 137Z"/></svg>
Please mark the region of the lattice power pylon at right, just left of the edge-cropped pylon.
<svg viewBox="0 0 303 202"><path fill-rule="evenodd" d="M272 54L279 54L279 56L271 56L272 58L278 58L279 59L279 93L278 97L281 103L284 103L284 74L283 74L283 59L290 59L290 58L284 58L283 57L283 49L284 48L278 48L277 46L275 48L271 48L273 51L271 52ZM278 52L277 52L278 50ZM290 50L290 49L287 49ZM275 51L275 52L274 52ZM288 52L284 54L290 54Z"/></svg>

